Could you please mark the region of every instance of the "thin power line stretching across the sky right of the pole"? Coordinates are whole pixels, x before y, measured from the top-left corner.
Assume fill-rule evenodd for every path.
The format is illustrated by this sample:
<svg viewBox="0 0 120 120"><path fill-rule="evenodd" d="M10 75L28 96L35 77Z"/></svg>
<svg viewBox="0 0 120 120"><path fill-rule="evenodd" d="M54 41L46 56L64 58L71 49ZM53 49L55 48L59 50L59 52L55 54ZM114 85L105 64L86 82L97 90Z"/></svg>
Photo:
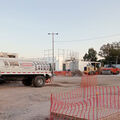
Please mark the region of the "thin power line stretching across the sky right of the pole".
<svg viewBox="0 0 120 120"><path fill-rule="evenodd" d="M94 38L88 38L88 39L80 39L80 40L55 41L55 42L82 42L82 41L97 40L97 39L116 37L116 36L120 36L120 34L114 34L114 35L109 35L109 36L100 36L100 37L94 37Z"/></svg>

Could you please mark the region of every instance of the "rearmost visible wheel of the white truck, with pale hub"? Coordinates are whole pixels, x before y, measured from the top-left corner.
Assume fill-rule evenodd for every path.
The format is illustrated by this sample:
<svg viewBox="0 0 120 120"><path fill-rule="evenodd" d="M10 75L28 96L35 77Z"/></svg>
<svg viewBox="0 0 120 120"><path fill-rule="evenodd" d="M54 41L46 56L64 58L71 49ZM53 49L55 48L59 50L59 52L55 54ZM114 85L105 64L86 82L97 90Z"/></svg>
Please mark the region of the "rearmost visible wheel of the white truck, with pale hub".
<svg viewBox="0 0 120 120"><path fill-rule="evenodd" d="M45 85L45 77L36 76L32 82L34 87L43 87Z"/></svg>

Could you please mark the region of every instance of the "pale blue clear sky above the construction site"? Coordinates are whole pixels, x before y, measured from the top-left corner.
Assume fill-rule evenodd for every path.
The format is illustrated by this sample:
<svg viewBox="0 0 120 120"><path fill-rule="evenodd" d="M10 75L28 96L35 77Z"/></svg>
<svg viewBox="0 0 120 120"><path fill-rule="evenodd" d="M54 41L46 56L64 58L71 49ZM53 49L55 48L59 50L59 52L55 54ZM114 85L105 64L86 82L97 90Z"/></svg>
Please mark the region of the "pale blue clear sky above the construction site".
<svg viewBox="0 0 120 120"><path fill-rule="evenodd" d="M55 49L82 57L89 48L120 41L120 0L0 0L0 51L40 57Z"/></svg>

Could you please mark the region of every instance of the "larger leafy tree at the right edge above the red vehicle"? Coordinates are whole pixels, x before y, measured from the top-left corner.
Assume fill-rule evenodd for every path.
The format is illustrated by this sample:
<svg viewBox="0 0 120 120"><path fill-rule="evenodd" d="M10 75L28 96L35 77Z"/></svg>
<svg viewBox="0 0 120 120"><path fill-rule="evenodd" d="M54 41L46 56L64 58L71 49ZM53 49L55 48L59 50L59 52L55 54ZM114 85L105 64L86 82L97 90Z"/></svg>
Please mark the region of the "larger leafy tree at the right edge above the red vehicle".
<svg viewBox="0 0 120 120"><path fill-rule="evenodd" d="M104 58L105 64L120 63L120 42L103 45L100 48L99 56Z"/></svg>

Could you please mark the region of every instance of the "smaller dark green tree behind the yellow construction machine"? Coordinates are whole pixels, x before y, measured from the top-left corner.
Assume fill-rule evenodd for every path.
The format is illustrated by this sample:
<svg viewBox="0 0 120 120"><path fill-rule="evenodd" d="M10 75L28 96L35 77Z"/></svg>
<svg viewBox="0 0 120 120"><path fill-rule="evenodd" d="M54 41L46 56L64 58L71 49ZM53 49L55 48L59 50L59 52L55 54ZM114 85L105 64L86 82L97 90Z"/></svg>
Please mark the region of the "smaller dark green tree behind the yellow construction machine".
<svg viewBox="0 0 120 120"><path fill-rule="evenodd" d="M83 57L84 61L97 61L97 52L90 48L88 49L88 53L85 53Z"/></svg>

